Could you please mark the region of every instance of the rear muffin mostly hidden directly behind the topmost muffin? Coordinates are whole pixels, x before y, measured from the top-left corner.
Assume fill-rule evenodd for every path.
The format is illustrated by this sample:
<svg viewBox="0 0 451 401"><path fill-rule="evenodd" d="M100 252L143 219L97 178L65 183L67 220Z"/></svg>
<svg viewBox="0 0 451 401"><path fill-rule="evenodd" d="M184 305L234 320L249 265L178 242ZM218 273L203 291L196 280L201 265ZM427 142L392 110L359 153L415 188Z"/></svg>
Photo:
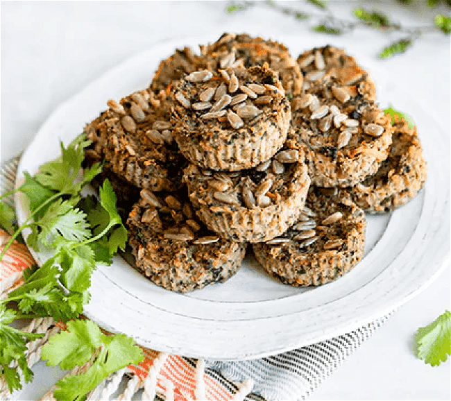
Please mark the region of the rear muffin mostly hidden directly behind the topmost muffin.
<svg viewBox="0 0 451 401"><path fill-rule="evenodd" d="M290 96L302 92L303 74L284 44L246 33L224 33L213 44L201 46L201 53L215 69L224 69L243 62L244 67L264 65L276 71L282 86Z"/></svg>

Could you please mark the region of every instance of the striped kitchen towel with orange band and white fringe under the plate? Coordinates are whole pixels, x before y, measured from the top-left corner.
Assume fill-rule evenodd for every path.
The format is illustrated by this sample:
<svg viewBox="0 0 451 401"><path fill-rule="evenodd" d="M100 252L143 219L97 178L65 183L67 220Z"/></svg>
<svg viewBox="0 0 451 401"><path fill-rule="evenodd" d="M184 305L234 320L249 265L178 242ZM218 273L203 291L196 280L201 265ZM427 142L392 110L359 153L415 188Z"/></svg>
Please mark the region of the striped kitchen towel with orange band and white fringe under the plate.
<svg viewBox="0 0 451 401"><path fill-rule="evenodd" d="M1 167L2 194L14 185L18 160L16 157ZM12 202L11 198L6 202ZM1 230L0 250L8 238L8 234ZM22 284L22 272L33 264L33 257L26 246L15 241L1 261L1 297ZM388 317L327 341L245 361L205 361L143 349L146 359L141 364L114 373L97 386L87 400L131 400L139 394L143 400L304 400ZM40 341L29 344L29 365L39 360L40 349L49 336L62 328L64 326L51 318L28 323L24 330L46 332ZM80 373L88 366L77 367L69 374ZM0 380L0 386L1 400L20 399L20 391L8 393L3 380ZM42 400L54 400L54 389L50 389Z"/></svg>

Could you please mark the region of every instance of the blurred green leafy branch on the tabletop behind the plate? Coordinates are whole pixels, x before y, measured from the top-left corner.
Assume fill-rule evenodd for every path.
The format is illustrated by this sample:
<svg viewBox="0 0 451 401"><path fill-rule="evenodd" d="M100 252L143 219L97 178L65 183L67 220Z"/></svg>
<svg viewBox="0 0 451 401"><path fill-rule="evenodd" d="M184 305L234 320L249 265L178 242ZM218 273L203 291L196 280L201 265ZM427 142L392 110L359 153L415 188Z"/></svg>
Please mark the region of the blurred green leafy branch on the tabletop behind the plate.
<svg viewBox="0 0 451 401"><path fill-rule="evenodd" d="M410 3L410 0L399 0L400 3ZM439 0L427 0L429 7L434 7L439 2ZM400 40L389 44L384 47L379 53L379 58L389 58L395 54L405 52L415 40L425 33L434 32L441 30L445 34L451 32L451 18L446 15L436 15L434 18L434 24L430 26L423 27L406 27L398 22L392 22L388 15L385 15L379 11L368 11L364 8L355 8L353 10L353 16L355 19L343 19L335 17L332 15L330 10L327 8L327 3L321 0L308 0L306 3L312 3L317 8L321 9L321 14L312 12L303 12L296 8L291 8L287 6L282 6L276 1L265 0L265 1L231 1L226 7L226 12L241 12L247 10L248 8L255 6L268 6L273 10L277 10L284 15L290 15L291 17L298 19L300 21L305 21L312 19L313 17L319 19L319 21L312 26L312 31L318 33L325 33L328 35L341 35L348 31L352 31L359 26L364 26L368 28L377 29L379 31L398 31L404 34ZM445 0L448 6L451 6L451 0Z"/></svg>

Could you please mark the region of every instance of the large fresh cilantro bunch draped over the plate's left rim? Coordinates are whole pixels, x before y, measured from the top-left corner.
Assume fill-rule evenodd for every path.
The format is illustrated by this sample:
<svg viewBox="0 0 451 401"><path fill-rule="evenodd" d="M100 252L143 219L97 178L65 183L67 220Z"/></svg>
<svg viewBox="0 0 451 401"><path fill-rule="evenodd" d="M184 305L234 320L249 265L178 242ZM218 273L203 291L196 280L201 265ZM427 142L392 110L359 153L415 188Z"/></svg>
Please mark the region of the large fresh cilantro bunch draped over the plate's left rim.
<svg viewBox="0 0 451 401"><path fill-rule="evenodd" d="M83 305L90 299L90 278L96 263L109 264L112 255L126 246L127 231L117 214L116 196L110 182L103 182L99 201L93 196L80 196L83 187L101 172L101 165L97 163L86 168L83 177L80 176L85 148L90 143L80 135L67 148L61 144L61 156L43 164L35 176L24 173L24 184L15 191L26 196L31 212L21 227L14 225L12 208L0 203L0 224L12 235L3 247L0 259L24 228L31 229L27 238L29 246L37 251L51 250L53 253L40 268L24 271L24 284L0 300L0 373L10 391L21 388L20 372L25 382L33 377L26 364L26 342L42 335L17 330L11 323L19 318L38 316L51 316L63 322L78 318ZM12 192L1 198L7 198ZM17 312L11 308L13 305ZM91 331L96 327L92 322L83 324L89 324ZM79 327L77 323L71 325ZM117 365L126 366L137 360L136 350L139 348L131 348L133 341L126 336L117 339L112 341L101 337L105 351L99 354L96 366L101 366L101 370L96 377L104 378ZM119 345L116 346L117 341ZM108 350L121 351L117 354L121 362L108 362L111 356ZM96 380L90 380L78 386L79 393L71 400L87 393L94 382Z"/></svg>

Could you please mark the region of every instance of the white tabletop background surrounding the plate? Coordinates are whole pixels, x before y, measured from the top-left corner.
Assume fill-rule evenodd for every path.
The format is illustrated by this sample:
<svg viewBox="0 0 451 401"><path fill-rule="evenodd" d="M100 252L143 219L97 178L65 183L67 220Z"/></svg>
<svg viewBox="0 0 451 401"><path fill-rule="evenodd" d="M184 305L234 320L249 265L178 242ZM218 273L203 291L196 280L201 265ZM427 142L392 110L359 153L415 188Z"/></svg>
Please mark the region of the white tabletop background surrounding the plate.
<svg viewBox="0 0 451 401"><path fill-rule="evenodd" d="M334 15L352 20L352 9L384 10L405 26L430 25L441 11L426 0L328 1ZM320 15L303 1L284 3ZM450 36L435 31L420 37L406 53L377 60L380 50L402 33L359 28L339 37L312 34L313 22L260 3L228 15L221 1L1 2L1 161L22 151L40 125L65 99L119 62L170 38L214 40L224 31L277 39L298 35L305 49L342 46L357 60L371 60L393 89L409 92L450 133ZM297 57L297 54L293 54ZM153 71L149 70L149 82ZM80 129L82 129L80 127ZM57 137L56 133L56 137ZM427 133L420 133L427 135ZM438 144L440 146L440 144ZM445 164L449 168L449 164ZM450 309L450 266L425 291L387 321L373 337L325 379L309 400L450 400L450 366L432 368L416 359L414 333ZM23 393L37 400L56 380L56 370L37 366L36 379Z"/></svg>

